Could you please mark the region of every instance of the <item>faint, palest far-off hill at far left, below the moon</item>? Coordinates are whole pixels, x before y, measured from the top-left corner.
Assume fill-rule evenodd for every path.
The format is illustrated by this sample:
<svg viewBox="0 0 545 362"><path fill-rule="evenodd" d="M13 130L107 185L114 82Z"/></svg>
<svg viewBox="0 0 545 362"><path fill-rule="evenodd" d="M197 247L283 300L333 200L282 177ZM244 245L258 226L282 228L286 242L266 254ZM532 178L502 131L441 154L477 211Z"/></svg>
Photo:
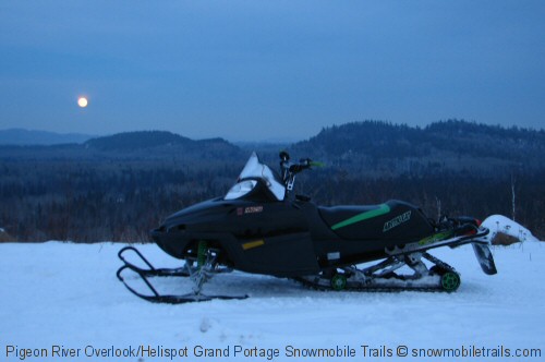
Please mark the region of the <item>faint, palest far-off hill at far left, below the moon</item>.
<svg viewBox="0 0 545 362"><path fill-rule="evenodd" d="M92 135L80 133L55 133L47 131L28 131L10 129L0 131L0 145L56 145L66 143L84 143Z"/></svg>

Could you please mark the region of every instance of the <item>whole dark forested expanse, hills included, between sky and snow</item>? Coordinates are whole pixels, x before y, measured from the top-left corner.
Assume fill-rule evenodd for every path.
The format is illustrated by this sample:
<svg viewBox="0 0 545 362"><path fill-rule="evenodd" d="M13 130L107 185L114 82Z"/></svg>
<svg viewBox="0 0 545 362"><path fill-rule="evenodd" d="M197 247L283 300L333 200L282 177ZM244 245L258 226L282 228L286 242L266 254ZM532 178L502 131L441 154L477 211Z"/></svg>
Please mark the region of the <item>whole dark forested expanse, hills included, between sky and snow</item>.
<svg viewBox="0 0 545 362"><path fill-rule="evenodd" d="M165 131L0 145L0 240L145 242L168 215L223 195L252 150L278 169L281 149L324 164L296 180L296 192L316 204L399 198L432 218L502 214L545 239L545 132L449 120L354 122L289 145Z"/></svg>

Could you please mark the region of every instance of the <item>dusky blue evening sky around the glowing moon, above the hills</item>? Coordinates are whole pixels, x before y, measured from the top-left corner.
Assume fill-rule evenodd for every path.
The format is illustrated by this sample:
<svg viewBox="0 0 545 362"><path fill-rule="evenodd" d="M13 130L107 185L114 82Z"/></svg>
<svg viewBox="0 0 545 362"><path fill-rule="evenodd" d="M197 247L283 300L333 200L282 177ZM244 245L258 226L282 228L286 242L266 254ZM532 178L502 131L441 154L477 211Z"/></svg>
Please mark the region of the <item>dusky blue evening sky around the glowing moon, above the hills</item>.
<svg viewBox="0 0 545 362"><path fill-rule="evenodd" d="M0 130L295 141L363 120L543 129L544 19L541 0L5 0Z"/></svg>

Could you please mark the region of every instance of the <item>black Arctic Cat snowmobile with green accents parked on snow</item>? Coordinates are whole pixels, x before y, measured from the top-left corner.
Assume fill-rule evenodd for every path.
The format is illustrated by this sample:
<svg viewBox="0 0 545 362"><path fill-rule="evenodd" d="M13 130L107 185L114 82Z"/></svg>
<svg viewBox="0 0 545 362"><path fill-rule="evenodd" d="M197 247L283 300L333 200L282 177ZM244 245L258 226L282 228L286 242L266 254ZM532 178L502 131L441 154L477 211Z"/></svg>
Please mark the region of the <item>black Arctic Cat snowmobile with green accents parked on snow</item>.
<svg viewBox="0 0 545 362"><path fill-rule="evenodd" d="M497 273L488 229L477 219L435 221L396 200L317 206L293 192L296 174L315 166L319 164L311 159L293 162L282 152L277 173L253 153L225 196L184 208L150 232L160 249L185 262L182 267L156 268L134 246L126 246L118 254L123 262L118 278L134 294L164 303L246 298L203 292L211 277L232 270L292 278L319 290L452 292L460 286L460 274L429 250L464 244L472 244L485 274ZM145 266L130 261L128 253ZM130 272L142 278L147 293L125 280ZM150 277L191 278L193 288L186 294L161 294Z"/></svg>

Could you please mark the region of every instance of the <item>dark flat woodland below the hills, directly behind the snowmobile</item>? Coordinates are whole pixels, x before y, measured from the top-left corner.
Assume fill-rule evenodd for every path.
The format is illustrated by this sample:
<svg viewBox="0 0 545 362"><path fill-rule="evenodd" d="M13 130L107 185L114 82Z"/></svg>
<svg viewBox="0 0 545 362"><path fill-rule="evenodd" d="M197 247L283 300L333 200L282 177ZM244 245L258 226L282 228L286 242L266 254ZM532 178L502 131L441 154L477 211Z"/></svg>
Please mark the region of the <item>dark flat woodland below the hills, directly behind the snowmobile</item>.
<svg viewBox="0 0 545 362"><path fill-rule="evenodd" d="M243 161L226 161L222 167L108 160L3 162L0 227L20 241L146 241L148 231L169 214L225 195L242 166ZM296 191L322 205L399 198L432 218L510 217L514 192L517 221L543 239L543 180L545 173L516 174L514 181L508 174L363 178L324 168L298 177Z"/></svg>

